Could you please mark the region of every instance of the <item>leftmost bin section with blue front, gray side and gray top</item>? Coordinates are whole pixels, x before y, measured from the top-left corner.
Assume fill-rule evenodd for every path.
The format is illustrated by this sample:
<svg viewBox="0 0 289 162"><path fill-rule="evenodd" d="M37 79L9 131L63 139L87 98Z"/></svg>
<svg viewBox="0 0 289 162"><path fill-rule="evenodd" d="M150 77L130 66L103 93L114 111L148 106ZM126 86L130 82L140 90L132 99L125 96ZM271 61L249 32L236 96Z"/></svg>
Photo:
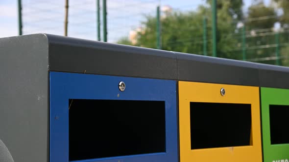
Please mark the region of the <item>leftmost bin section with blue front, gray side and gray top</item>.
<svg viewBox="0 0 289 162"><path fill-rule="evenodd" d="M32 34L0 64L0 162L178 161L171 52Z"/></svg>

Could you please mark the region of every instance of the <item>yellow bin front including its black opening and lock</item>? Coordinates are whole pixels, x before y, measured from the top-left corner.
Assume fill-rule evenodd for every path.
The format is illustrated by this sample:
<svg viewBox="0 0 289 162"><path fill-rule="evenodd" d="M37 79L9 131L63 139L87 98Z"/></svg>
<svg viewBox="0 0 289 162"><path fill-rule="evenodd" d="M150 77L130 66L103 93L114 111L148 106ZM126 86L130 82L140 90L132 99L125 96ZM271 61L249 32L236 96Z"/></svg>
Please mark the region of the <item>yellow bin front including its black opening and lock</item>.
<svg viewBox="0 0 289 162"><path fill-rule="evenodd" d="M259 87L178 87L180 162L262 162Z"/></svg>

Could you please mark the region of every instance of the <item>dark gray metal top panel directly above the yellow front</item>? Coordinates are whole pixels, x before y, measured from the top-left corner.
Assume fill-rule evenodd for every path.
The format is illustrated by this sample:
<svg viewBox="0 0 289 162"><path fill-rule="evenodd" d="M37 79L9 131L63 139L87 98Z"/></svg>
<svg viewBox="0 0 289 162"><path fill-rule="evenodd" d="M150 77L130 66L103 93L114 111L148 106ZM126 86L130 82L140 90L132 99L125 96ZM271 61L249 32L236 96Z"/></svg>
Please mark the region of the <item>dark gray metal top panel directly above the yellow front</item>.
<svg viewBox="0 0 289 162"><path fill-rule="evenodd" d="M180 81L259 86L256 63L175 53Z"/></svg>

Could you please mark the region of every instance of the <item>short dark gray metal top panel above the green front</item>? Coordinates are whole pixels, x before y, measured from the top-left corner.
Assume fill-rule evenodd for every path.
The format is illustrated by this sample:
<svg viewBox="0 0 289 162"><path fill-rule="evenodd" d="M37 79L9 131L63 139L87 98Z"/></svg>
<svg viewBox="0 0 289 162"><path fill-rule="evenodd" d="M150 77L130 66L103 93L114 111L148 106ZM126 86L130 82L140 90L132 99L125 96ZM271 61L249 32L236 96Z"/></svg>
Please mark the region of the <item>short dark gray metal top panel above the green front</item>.
<svg viewBox="0 0 289 162"><path fill-rule="evenodd" d="M289 67L258 64L260 86L289 89Z"/></svg>

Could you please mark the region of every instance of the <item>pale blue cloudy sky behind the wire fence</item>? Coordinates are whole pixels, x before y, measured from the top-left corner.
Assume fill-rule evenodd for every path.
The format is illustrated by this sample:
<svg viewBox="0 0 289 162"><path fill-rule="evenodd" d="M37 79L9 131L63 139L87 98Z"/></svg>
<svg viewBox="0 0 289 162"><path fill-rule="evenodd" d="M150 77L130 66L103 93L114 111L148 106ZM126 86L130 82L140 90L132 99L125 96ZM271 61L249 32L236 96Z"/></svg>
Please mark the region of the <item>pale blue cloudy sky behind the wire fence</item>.
<svg viewBox="0 0 289 162"><path fill-rule="evenodd" d="M0 0L0 38L18 35L17 1ZM23 34L63 35L64 1L22 0ZM246 10L252 0L243 1ZM116 42L128 36L144 20L144 14L155 15L157 5L186 11L204 3L205 0L107 0L108 41ZM96 40L96 0L70 0L68 36Z"/></svg>

